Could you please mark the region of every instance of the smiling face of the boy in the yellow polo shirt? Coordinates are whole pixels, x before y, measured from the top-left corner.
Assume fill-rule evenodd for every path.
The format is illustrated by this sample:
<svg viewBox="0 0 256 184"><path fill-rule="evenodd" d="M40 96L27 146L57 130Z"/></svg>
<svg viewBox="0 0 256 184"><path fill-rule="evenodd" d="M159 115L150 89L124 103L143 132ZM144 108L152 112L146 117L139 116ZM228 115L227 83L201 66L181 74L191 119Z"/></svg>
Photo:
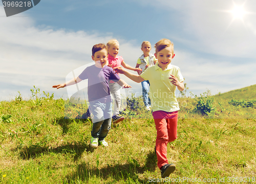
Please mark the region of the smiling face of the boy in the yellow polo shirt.
<svg viewBox="0 0 256 184"><path fill-rule="evenodd" d="M170 62L172 62L175 54L173 54L172 47L166 47L161 51L158 51L155 56L158 60L158 66L162 68L162 70L165 70Z"/></svg>

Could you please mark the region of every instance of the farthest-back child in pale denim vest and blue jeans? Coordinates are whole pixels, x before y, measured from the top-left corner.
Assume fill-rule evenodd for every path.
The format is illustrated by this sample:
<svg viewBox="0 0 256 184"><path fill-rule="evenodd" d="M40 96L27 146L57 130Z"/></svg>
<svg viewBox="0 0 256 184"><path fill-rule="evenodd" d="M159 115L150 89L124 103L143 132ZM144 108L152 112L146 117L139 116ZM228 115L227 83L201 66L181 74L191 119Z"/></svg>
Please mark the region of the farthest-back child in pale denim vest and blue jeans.
<svg viewBox="0 0 256 184"><path fill-rule="evenodd" d="M143 54L139 57L137 60L136 68L140 67L141 72L144 72L148 66L155 65L157 62L156 57L150 53L151 51L151 43L149 41L143 41L141 44L141 51L143 51ZM141 72L138 72L140 75ZM142 86L142 96L143 96L143 102L146 106L146 110L151 110L151 100L150 97L148 97L148 85L150 85L150 82L148 80L144 80L141 82Z"/></svg>

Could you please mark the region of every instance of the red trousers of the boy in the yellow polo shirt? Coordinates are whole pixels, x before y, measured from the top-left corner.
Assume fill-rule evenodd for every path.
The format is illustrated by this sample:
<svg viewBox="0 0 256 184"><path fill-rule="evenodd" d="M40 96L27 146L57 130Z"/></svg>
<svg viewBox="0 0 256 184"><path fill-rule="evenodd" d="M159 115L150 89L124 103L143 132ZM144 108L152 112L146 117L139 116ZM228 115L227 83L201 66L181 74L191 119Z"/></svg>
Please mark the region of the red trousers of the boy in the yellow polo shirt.
<svg viewBox="0 0 256 184"><path fill-rule="evenodd" d="M160 169L167 160L167 143L177 139L178 111L166 112L158 110L153 112L157 129L156 153L157 166Z"/></svg>

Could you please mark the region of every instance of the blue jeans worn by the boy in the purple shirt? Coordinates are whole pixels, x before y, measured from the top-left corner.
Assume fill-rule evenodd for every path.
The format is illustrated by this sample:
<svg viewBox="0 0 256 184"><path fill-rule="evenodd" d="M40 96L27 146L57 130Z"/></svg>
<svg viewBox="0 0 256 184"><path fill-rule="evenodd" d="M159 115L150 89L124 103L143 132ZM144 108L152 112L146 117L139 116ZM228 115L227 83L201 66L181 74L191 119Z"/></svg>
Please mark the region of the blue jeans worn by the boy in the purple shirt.
<svg viewBox="0 0 256 184"><path fill-rule="evenodd" d="M111 129L112 103L90 102L90 114L92 114L93 121L92 137L99 138L99 141L102 141Z"/></svg>

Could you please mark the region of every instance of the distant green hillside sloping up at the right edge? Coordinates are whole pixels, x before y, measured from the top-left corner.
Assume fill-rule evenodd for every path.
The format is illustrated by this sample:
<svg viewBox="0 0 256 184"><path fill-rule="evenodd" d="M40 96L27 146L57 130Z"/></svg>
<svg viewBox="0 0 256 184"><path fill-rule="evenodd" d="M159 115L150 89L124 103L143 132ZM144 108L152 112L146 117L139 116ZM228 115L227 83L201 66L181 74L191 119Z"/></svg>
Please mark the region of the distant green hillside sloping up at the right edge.
<svg viewBox="0 0 256 184"><path fill-rule="evenodd" d="M248 87L244 87L241 89L231 90L227 93L223 93L216 96L219 96L223 99L235 99L235 100L256 99L256 84Z"/></svg>

